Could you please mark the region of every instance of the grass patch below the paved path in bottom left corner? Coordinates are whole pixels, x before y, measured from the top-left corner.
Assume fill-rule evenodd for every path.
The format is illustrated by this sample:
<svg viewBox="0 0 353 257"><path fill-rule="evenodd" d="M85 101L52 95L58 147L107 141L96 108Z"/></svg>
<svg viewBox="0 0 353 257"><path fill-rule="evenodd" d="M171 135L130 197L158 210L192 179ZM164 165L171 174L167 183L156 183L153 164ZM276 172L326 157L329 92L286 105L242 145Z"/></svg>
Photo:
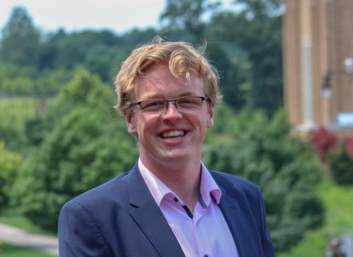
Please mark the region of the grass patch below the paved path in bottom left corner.
<svg viewBox="0 0 353 257"><path fill-rule="evenodd" d="M10 244L0 244L0 256L1 257L53 257L54 255L45 254L40 251L14 246Z"/></svg>

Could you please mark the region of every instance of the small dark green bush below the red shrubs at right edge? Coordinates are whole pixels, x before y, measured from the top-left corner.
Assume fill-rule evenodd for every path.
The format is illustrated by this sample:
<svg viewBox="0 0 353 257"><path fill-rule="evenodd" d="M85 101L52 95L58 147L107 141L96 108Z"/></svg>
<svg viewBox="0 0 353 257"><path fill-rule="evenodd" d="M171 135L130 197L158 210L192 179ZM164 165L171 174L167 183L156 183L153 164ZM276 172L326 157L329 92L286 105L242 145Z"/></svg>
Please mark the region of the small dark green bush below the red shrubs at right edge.
<svg viewBox="0 0 353 257"><path fill-rule="evenodd" d="M338 184L353 184L353 158L347 151L346 143L342 142L338 151L330 152L327 162Z"/></svg>

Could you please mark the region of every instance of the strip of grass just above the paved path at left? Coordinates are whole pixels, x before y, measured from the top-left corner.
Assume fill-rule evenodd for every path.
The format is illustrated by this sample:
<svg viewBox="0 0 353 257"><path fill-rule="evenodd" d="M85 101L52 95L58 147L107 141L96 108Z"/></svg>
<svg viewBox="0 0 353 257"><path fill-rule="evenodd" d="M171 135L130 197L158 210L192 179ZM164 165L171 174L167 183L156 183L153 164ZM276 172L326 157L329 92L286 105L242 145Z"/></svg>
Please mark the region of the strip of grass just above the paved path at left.
<svg viewBox="0 0 353 257"><path fill-rule="evenodd" d="M40 228L23 215L8 211L0 216L0 223L16 228L22 228L29 232L57 236L56 233Z"/></svg>

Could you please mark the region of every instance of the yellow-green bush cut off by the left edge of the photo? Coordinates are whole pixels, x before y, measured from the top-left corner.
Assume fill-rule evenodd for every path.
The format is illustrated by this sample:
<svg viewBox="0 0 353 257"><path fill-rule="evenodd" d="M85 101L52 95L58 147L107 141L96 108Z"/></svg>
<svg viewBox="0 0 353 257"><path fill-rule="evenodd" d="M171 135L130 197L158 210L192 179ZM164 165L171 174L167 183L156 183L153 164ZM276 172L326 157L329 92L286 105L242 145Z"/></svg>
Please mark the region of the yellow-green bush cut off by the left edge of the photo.
<svg viewBox="0 0 353 257"><path fill-rule="evenodd" d="M21 165L22 158L15 152L5 150L5 145L0 142L0 211L8 207L10 190Z"/></svg>

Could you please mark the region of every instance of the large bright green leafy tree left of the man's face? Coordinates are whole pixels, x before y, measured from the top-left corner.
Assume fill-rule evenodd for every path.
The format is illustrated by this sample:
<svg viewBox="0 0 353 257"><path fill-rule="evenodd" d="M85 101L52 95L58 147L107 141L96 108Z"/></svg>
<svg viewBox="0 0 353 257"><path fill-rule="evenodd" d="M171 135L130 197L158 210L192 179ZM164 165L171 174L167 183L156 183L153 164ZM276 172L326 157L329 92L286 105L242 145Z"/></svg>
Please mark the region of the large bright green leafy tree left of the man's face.
<svg viewBox="0 0 353 257"><path fill-rule="evenodd" d="M80 72L36 121L43 138L24 161L13 199L40 226L55 231L65 201L133 166L135 142L114 104L110 87Z"/></svg>

